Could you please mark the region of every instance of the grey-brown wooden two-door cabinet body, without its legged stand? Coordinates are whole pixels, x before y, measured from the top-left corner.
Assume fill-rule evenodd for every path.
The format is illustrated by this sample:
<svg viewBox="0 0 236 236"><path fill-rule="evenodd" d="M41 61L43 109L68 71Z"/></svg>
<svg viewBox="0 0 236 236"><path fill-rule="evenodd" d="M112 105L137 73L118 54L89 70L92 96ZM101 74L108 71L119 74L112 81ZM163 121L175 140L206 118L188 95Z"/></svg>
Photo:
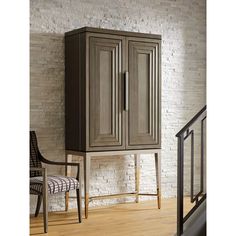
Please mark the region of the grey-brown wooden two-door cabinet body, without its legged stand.
<svg viewBox="0 0 236 236"><path fill-rule="evenodd" d="M97 28L65 35L66 149L161 147L161 37Z"/></svg>

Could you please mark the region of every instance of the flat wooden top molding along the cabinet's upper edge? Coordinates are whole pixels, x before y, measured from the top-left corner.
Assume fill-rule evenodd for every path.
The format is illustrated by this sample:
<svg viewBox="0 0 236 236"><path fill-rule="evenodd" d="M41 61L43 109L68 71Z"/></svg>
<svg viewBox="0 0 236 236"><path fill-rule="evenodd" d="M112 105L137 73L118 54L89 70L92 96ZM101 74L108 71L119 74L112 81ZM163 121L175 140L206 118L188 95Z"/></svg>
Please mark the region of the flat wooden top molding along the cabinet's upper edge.
<svg viewBox="0 0 236 236"><path fill-rule="evenodd" d="M65 36L70 36L70 35L84 33L84 32L101 33L101 34L114 34L114 35L130 36L130 37L133 36L133 37L145 37L145 38L161 39L161 35L158 35L158 34L120 31L120 30L94 28L94 27L83 27L83 28L75 29L75 30L66 32Z"/></svg>

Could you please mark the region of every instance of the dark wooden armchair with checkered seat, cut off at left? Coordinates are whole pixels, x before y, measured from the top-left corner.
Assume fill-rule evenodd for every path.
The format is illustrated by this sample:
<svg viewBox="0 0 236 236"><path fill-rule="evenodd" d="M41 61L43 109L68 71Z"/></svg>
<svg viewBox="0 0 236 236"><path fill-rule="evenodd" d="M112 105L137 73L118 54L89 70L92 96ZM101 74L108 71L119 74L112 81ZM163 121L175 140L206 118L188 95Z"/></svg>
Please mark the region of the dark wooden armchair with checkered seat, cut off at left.
<svg viewBox="0 0 236 236"><path fill-rule="evenodd" d="M47 169L42 167L42 162L50 165L70 165L76 166L76 178L67 176L47 175ZM38 216L41 202L43 199L43 218L44 232L48 231L48 194L56 194L59 192L68 192L76 190L78 219L82 221L81 216L81 171L80 163L54 162L45 159L38 148L37 137L35 131L30 131L30 194L37 195L37 207L35 217Z"/></svg>

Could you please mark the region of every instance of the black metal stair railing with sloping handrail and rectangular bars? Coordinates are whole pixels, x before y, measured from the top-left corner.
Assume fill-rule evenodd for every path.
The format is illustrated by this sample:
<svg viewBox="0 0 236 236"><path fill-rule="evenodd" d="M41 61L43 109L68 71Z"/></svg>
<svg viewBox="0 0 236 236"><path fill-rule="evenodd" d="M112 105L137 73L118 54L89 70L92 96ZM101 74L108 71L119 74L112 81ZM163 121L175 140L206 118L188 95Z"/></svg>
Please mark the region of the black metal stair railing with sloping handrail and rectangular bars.
<svg viewBox="0 0 236 236"><path fill-rule="evenodd" d="M178 182L177 182L177 236L183 234L184 231L184 223L188 220L188 218L195 212L195 210L201 205L201 203L206 199L206 191L204 192L204 159L206 145L204 142L204 131L206 130L206 125L204 125L204 121L206 121L206 106L204 106L177 134L178 138ZM194 128L193 126L197 123L201 122L200 129L200 191L194 194ZM206 124L206 123L205 123ZM184 142L191 137L191 145L190 145L190 156L191 156L191 182L190 182L190 201L195 204L192 209L185 214L184 216Z"/></svg>

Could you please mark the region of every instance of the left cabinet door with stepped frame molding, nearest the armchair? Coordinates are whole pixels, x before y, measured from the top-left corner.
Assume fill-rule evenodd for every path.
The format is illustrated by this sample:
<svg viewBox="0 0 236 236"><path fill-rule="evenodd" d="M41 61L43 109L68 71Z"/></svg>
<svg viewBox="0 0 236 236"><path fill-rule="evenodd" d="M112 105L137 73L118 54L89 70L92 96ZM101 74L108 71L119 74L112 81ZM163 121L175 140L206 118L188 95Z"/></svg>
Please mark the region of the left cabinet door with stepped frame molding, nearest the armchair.
<svg viewBox="0 0 236 236"><path fill-rule="evenodd" d="M89 37L89 150L125 148L122 44L123 39L119 36Z"/></svg>

